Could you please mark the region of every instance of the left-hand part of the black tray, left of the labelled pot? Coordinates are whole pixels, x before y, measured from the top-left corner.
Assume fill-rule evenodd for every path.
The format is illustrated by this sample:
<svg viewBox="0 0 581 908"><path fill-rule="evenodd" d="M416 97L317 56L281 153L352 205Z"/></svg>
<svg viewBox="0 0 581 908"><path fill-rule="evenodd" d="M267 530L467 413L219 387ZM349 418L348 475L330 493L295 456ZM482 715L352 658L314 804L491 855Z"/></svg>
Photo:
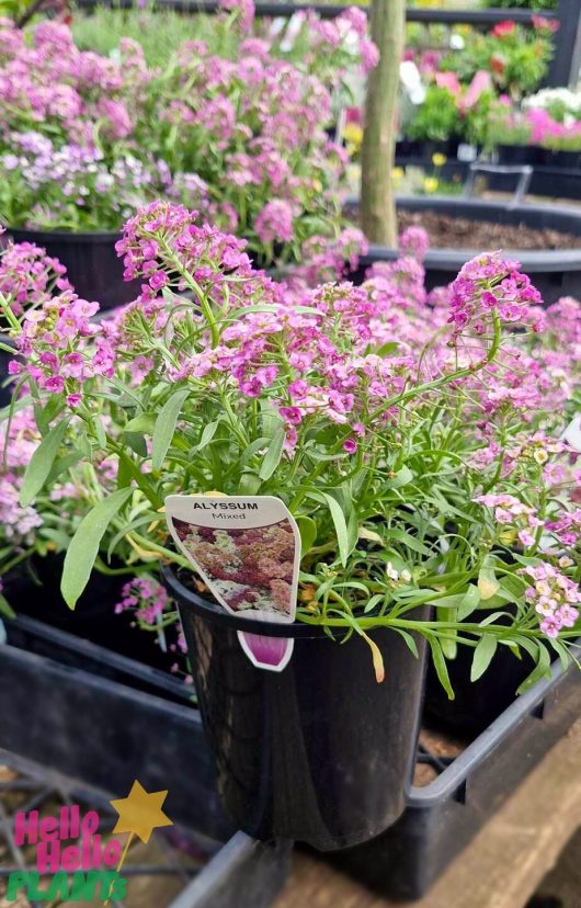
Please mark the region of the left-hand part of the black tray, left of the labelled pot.
<svg viewBox="0 0 581 908"><path fill-rule="evenodd" d="M224 815L192 689L34 618L4 623L0 747L104 791L169 788L168 811L217 841Z"/></svg>

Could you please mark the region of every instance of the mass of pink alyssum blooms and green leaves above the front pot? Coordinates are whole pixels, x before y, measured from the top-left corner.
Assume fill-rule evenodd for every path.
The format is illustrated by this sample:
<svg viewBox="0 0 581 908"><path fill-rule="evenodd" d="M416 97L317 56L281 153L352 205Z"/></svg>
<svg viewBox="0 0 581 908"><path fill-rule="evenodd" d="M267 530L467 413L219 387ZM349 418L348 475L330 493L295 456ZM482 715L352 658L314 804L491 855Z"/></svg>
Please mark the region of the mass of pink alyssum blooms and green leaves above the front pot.
<svg viewBox="0 0 581 908"><path fill-rule="evenodd" d="M14 329L42 475L66 421L59 463L91 476L62 581L71 606L96 549L187 567L168 545L167 495L272 493L305 532L299 621L339 638L387 625L412 648L417 632L446 686L458 643L487 640L478 673L497 645L531 652L534 677L555 650L574 655L579 474L560 435L579 408L581 308L562 300L545 326L499 254L428 299L425 243L411 229L361 287L307 291L156 203L119 243L139 300L94 324L95 307L64 293Z"/></svg>

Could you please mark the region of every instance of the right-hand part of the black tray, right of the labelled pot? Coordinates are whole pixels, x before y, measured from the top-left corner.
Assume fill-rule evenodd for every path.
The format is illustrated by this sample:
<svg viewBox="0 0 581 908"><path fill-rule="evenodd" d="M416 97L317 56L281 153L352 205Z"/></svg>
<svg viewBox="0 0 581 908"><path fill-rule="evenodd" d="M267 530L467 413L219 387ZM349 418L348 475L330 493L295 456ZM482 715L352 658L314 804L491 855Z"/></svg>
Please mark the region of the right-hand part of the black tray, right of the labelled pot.
<svg viewBox="0 0 581 908"><path fill-rule="evenodd" d="M581 672L557 663L550 680L465 749L424 730L403 815L377 839L330 860L387 898L421 898L580 714Z"/></svg>

